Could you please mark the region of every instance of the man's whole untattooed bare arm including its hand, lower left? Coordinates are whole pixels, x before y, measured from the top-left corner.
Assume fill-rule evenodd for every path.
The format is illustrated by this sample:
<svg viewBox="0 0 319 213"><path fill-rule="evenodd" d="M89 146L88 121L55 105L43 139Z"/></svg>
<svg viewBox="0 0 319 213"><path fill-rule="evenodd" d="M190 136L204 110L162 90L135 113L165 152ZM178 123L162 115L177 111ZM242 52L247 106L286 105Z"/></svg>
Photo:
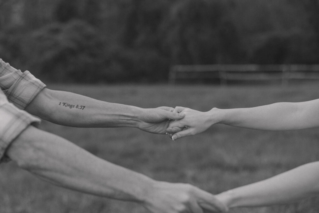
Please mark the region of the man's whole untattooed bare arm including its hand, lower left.
<svg viewBox="0 0 319 213"><path fill-rule="evenodd" d="M104 161L71 142L28 127L6 154L51 183L102 197L134 201L153 213L225 211L212 194L188 184L152 180Z"/></svg>

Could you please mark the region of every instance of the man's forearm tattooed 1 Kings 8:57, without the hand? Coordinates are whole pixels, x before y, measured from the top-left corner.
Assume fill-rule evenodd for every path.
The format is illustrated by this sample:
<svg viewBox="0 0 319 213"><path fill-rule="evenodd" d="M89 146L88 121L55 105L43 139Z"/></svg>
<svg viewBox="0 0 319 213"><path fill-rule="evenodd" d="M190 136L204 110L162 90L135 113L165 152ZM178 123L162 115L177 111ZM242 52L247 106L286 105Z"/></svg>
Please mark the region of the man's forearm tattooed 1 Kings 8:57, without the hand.
<svg viewBox="0 0 319 213"><path fill-rule="evenodd" d="M44 89L26 107L26 111L65 126L137 127L137 116L142 109L71 92Z"/></svg>

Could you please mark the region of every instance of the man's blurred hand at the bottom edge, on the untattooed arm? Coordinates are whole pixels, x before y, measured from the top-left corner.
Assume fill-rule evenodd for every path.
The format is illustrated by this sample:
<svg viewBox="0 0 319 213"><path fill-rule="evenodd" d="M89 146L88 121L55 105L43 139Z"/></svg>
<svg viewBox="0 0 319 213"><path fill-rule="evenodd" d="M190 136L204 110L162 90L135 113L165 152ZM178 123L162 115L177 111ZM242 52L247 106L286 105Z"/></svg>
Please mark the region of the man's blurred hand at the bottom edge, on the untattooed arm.
<svg viewBox="0 0 319 213"><path fill-rule="evenodd" d="M143 206L154 213L226 212L227 207L214 195L193 185L157 182L149 190Z"/></svg>

